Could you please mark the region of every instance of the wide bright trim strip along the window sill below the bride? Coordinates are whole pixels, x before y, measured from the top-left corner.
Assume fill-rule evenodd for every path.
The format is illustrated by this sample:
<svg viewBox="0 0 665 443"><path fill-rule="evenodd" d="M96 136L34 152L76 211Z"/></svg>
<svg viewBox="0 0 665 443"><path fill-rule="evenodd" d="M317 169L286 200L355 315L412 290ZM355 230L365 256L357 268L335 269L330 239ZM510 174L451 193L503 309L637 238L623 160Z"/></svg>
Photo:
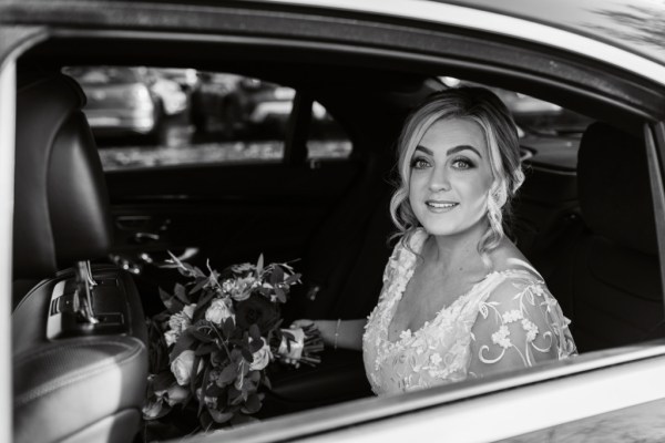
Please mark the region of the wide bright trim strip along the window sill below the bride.
<svg viewBox="0 0 665 443"><path fill-rule="evenodd" d="M304 442L495 442L665 398L665 359L612 367L446 404Z"/></svg>

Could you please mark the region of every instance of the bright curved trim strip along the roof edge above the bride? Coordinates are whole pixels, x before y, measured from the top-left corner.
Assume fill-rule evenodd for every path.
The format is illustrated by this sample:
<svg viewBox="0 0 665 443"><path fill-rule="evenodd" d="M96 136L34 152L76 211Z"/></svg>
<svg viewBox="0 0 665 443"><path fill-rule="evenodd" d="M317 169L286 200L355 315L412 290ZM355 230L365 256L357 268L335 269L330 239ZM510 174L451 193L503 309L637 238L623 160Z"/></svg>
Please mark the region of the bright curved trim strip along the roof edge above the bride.
<svg viewBox="0 0 665 443"><path fill-rule="evenodd" d="M493 32L594 58L665 85L665 66L630 51L516 17L426 0L263 0L267 3L337 9Z"/></svg>

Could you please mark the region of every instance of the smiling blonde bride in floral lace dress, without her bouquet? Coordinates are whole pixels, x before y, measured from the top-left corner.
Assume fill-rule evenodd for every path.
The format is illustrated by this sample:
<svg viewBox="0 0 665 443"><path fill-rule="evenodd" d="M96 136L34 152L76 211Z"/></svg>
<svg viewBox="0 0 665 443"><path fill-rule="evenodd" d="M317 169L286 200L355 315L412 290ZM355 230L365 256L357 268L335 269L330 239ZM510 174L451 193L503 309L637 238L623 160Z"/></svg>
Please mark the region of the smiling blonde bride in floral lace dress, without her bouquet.
<svg viewBox="0 0 665 443"><path fill-rule="evenodd" d="M570 321L503 231L524 179L505 105L481 87L437 93L409 116L398 150L400 240L379 302L368 319L314 320L325 342L362 349L376 394L575 354Z"/></svg>

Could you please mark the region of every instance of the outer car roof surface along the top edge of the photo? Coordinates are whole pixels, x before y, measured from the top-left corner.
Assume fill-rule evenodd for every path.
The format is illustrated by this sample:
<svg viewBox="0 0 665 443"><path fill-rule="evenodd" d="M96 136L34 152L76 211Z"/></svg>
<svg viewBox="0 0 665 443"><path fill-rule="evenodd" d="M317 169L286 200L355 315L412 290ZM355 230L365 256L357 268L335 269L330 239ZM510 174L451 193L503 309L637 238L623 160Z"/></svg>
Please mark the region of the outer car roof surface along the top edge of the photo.
<svg viewBox="0 0 665 443"><path fill-rule="evenodd" d="M58 9L69 10L72 14L76 14L76 7L86 6L90 8L94 3L112 6L106 9L100 8L98 10L99 16L122 16L124 13L122 8L132 7L132 2L109 0L0 0L0 10L6 16L0 21L28 23L32 20L25 17L25 12L31 11L32 13L29 17L33 16L32 18L37 19L37 22L34 22L37 24L47 17L43 16L47 10L54 14L58 14L55 12ZM441 20L447 21L444 18L446 11L440 11L443 17L437 13L439 17L433 18L428 16L430 13L427 8L428 4L430 7L447 6L519 19L523 24L538 23L567 31L665 65L665 45L663 44L665 29L659 24L665 20L665 6L656 0L556 0L555 2L532 0L144 0L141 3L161 3L171 8L180 7L183 8L183 11L195 7L239 6L252 8L254 6L259 9L274 9L278 13L283 8L289 10L301 8L309 11L325 11L325 13L339 13L342 16L345 13L368 13L387 18L418 19L420 21L427 21L429 17L432 23L441 23ZM40 8L40 6L43 6L43 8ZM89 11L85 13L88 16L84 20L92 19ZM40 14L41 18L34 17ZM501 33L500 28L497 28L493 23L495 20L491 16L477 17L475 20L479 21L475 29L487 28L490 32ZM449 22L448 24L454 23ZM469 23L458 23L458 25L469 27ZM520 34L522 38L528 35L528 40L545 42L539 35L538 29L521 33L516 32L512 37ZM570 49L574 50L574 48Z"/></svg>

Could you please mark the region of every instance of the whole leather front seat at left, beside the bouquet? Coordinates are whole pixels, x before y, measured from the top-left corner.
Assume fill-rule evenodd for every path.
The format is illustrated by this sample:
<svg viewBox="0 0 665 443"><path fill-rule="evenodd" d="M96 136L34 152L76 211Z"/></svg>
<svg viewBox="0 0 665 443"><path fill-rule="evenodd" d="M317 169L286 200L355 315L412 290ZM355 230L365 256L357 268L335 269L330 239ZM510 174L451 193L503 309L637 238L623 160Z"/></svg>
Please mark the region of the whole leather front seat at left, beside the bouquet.
<svg viewBox="0 0 665 443"><path fill-rule="evenodd" d="M96 266L96 285L82 279L85 260L106 255L112 233L99 154L81 112L85 96L59 73L19 78L13 278L42 281L12 315L14 441L132 441L147 334L126 272ZM81 316L81 300L91 301L96 322Z"/></svg>

